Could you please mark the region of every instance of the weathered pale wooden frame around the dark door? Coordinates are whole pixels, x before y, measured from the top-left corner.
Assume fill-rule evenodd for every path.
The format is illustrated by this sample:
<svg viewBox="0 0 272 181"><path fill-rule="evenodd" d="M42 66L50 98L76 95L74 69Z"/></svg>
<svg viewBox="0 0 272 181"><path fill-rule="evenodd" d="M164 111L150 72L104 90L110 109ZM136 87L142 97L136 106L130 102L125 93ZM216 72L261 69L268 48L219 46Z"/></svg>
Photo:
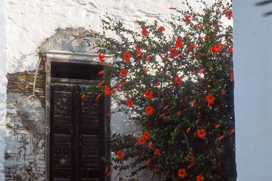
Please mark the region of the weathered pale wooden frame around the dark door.
<svg viewBox="0 0 272 181"><path fill-rule="evenodd" d="M51 93L51 63L73 63L85 65L104 65L107 66L112 61L112 56L105 55L105 62L98 60L98 54L76 54L69 51L47 51L45 62L45 180L50 181L50 93ZM111 99L109 96L105 98L104 125L105 135L110 134L110 116L107 113L111 110ZM105 158L110 158L110 147L105 145ZM106 171L106 170L105 170ZM106 174L105 174L106 175ZM105 180L110 180L106 177Z"/></svg>

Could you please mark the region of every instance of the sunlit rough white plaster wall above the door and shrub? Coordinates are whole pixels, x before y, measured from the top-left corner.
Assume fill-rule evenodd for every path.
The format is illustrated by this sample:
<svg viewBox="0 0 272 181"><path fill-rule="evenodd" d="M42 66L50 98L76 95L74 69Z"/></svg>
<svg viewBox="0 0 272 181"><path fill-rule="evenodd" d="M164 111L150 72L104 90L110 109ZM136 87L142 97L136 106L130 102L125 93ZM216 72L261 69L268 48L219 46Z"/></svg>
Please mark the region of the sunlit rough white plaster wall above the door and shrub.
<svg viewBox="0 0 272 181"><path fill-rule="evenodd" d="M207 0L213 2L214 0ZM196 0L190 1L195 5ZM177 15L170 7L182 8L181 0L138 1L138 0L8 0L9 73L33 70L37 64L35 51L39 44L54 34L57 28L92 29L101 32L100 16L108 14L121 20L131 29L139 30L134 20L155 19L159 25L165 18ZM199 4L193 6L200 9ZM139 30L140 31L140 30Z"/></svg>

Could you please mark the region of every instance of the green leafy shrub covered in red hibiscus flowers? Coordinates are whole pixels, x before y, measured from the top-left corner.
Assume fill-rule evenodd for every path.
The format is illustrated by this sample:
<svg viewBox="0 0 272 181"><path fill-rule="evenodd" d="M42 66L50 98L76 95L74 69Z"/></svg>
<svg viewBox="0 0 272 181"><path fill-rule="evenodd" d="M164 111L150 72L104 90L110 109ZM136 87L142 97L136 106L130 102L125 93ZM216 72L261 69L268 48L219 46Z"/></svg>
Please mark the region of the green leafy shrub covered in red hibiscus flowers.
<svg viewBox="0 0 272 181"><path fill-rule="evenodd" d="M102 54L115 59L88 91L111 96L116 112L128 114L143 132L111 136L117 155L105 160L116 163L111 169L135 167L131 175L149 169L167 180L235 179L232 27L221 25L232 10L222 1L201 3L203 13L188 3L187 11L170 8L180 13L167 21L171 30L156 20L135 21L138 31L107 15L102 20L119 40L101 35L106 43L97 45L97 61L104 61Z"/></svg>

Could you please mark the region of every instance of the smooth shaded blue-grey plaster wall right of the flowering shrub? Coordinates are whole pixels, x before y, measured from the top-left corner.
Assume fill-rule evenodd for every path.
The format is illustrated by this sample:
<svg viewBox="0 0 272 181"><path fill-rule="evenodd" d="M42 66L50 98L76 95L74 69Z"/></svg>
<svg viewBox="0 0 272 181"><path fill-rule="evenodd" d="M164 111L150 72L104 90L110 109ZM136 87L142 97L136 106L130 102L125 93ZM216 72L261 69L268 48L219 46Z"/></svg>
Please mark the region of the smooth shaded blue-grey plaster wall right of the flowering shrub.
<svg viewBox="0 0 272 181"><path fill-rule="evenodd" d="M272 177L272 3L233 1L237 180Z"/></svg>

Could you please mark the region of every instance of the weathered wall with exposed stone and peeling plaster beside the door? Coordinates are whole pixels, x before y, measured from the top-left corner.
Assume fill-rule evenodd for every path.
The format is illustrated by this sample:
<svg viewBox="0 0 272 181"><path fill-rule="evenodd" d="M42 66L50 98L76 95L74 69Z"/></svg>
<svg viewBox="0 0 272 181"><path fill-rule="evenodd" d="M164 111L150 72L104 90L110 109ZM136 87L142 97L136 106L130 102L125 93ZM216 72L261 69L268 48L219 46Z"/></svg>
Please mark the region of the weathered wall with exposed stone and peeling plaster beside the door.
<svg viewBox="0 0 272 181"><path fill-rule="evenodd" d="M33 93L35 70L8 74L7 132L5 151L6 180L45 179L45 71L41 61Z"/></svg>

